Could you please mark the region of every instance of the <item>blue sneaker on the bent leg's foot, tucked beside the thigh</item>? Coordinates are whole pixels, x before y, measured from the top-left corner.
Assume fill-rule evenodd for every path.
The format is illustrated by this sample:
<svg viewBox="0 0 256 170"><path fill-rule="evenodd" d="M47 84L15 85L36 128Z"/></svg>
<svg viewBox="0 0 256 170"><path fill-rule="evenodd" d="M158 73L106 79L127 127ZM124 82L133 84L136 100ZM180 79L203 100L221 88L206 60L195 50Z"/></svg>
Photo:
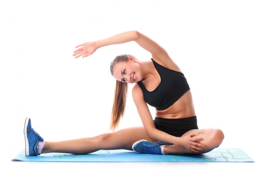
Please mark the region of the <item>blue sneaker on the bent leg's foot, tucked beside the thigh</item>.
<svg viewBox="0 0 256 170"><path fill-rule="evenodd" d="M161 145L171 145L164 142L150 142L145 139L135 142L132 145L132 149L139 153L148 153L161 155Z"/></svg>

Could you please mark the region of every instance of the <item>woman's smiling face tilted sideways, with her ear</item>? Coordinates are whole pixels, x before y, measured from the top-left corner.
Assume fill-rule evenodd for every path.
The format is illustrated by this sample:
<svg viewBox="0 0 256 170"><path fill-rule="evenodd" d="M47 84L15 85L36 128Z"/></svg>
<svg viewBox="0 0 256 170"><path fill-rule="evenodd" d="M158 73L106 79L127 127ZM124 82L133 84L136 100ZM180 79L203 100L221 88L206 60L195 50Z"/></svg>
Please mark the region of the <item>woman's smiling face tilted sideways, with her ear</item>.
<svg viewBox="0 0 256 170"><path fill-rule="evenodd" d="M121 82L136 83L141 81L143 76L139 64L133 57L129 57L128 62L115 64L113 77Z"/></svg>

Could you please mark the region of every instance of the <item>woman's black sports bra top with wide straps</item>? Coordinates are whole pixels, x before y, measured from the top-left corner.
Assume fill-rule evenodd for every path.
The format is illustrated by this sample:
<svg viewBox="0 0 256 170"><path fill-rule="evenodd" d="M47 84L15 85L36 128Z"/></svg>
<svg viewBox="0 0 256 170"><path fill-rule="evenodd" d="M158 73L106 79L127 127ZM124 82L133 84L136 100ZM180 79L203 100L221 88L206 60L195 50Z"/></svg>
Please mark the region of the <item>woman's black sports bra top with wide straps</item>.
<svg viewBox="0 0 256 170"><path fill-rule="evenodd" d="M148 91L141 81L138 85L143 92L144 100L150 106L157 110L164 110L190 90L190 87L183 73L161 66L153 58L151 60L160 75L160 84L153 91Z"/></svg>

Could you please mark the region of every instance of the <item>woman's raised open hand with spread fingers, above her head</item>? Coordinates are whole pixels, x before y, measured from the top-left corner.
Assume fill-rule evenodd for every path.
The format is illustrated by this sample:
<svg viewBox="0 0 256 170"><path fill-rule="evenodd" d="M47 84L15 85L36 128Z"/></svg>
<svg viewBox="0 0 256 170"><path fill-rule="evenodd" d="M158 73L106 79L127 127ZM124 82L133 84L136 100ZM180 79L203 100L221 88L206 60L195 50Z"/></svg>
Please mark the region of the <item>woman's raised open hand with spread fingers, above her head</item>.
<svg viewBox="0 0 256 170"><path fill-rule="evenodd" d="M87 57L89 55L92 55L92 53L94 53L97 50L96 42L85 42L83 44L76 46L76 48L78 47L80 48L76 49L76 51L74 51L74 54L73 54L75 58L78 58L81 56Z"/></svg>

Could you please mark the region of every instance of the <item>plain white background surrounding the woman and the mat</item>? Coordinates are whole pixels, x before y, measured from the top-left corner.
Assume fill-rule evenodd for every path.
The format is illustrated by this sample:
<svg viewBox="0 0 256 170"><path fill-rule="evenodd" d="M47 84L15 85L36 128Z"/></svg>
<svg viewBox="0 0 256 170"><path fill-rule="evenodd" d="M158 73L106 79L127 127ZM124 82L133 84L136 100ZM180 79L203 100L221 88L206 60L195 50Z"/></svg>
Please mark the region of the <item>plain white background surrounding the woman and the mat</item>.
<svg viewBox="0 0 256 170"><path fill-rule="evenodd" d="M47 141L108 132L119 54L150 60L135 42L75 59L75 46L137 30L168 51L185 74L199 128L220 128L220 148L241 148L254 161L256 114L255 0L22 0L0 2L0 166L19 169L216 169L255 163L11 162L25 148L23 126ZM129 86L119 129L142 126ZM154 109L150 107L153 118Z"/></svg>

